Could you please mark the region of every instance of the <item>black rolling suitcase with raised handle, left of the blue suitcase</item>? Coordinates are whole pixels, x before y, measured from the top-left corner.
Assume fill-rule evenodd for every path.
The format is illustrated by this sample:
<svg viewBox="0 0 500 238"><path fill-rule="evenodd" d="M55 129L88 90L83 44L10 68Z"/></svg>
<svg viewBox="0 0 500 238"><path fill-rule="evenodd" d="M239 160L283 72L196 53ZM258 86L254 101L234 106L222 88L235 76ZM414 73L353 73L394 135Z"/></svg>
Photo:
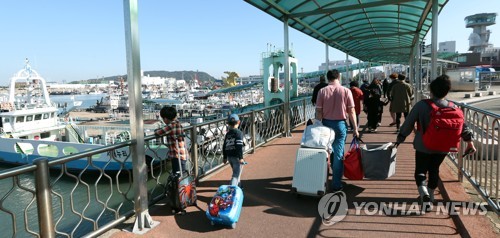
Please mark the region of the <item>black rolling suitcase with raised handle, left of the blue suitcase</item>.
<svg viewBox="0 0 500 238"><path fill-rule="evenodd" d="M179 142L176 140L177 151ZM186 153L187 156L187 153ZM179 172L171 173L167 180L167 197L172 213L186 214L186 207L196 205L196 180L188 171L182 171L180 155L177 155Z"/></svg>

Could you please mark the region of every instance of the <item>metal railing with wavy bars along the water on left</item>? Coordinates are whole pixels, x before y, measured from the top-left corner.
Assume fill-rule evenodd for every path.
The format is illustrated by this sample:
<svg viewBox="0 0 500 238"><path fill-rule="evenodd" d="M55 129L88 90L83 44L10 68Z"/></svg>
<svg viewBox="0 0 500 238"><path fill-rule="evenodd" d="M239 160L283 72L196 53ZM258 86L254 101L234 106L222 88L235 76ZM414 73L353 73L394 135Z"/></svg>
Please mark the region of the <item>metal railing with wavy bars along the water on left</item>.
<svg viewBox="0 0 500 238"><path fill-rule="evenodd" d="M291 126L314 114L310 97L240 114L245 153L285 134L284 110L291 110ZM188 169L198 178L223 166L225 119L184 128L190 151ZM130 169L131 146L126 141L59 158L39 158L34 164L0 171L0 220L5 237L98 236L133 216L136 190ZM164 138L145 137L148 203L165 197L171 164L164 153ZM161 152L160 152L161 151ZM108 161L102 163L106 155ZM152 156L151 156L152 155ZM29 154L26 156L30 156ZM96 162L100 159L100 164ZM81 170L71 170L80 163ZM120 168L109 171L106 168ZM136 166L136 165L134 165Z"/></svg>

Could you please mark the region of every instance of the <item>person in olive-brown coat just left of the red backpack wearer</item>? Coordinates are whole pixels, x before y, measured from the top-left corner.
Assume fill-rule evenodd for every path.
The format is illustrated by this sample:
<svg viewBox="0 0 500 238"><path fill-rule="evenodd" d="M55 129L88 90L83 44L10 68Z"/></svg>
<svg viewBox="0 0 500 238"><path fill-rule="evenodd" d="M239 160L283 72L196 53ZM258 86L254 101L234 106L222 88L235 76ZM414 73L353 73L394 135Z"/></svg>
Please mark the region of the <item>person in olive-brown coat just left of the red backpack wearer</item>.
<svg viewBox="0 0 500 238"><path fill-rule="evenodd" d="M413 98L413 90L411 85L405 82L406 76L403 74L398 75L397 83L391 88L391 105L389 110L396 114L396 131L399 132L401 126L402 114L408 116L411 108L411 100Z"/></svg>

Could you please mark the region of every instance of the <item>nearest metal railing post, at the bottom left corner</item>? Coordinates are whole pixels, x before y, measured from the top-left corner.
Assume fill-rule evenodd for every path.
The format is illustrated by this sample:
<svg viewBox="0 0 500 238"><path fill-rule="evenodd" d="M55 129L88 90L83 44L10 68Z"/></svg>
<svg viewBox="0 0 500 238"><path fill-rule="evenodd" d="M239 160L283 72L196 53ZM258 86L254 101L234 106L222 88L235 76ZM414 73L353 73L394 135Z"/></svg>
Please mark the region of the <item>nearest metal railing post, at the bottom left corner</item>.
<svg viewBox="0 0 500 238"><path fill-rule="evenodd" d="M36 205L41 237L56 237L52 218L52 197L50 195L49 162L46 158L34 161Z"/></svg>

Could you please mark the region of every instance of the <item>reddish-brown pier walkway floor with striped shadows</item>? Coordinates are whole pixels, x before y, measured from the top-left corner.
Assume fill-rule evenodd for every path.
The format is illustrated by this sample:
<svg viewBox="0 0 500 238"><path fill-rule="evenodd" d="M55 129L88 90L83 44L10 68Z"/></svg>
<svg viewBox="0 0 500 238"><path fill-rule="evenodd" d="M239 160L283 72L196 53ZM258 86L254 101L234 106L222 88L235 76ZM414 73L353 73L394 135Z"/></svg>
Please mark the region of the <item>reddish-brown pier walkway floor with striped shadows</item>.
<svg viewBox="0 0 500 238"><path fill-rule="evenodd" d="M360 129L365 143L394 142L395 127L388 127L391 118L388 107L377 133ZM361 115L361 125L366 115ZM499 237L499 224L484 215L448 215L436 212L419 214L368 214L364 209L356 214L354 202L404 203L416 202L418 192L413 178L413 135L401 144L397 153L396 174L387 180L345 180L344 192L349 204L348 215L340 222L327 226L318 214L319 198L296 197L290 192L294 158L299 148L304 126L295 128L291 137L278 138L246 156L248 165L242 176L243 211L236 229L211 226L205 217L207 203L217 187L227 184L229 166L204 178L198 187L198 206L189 207L187 214L172 215L166 200L154 205L149 212L160 222L144 235L131 229L133 219L103 237ZM349 135L347 142L351 141ZM346 143L346 148L348 143ZM438 202L470 202L470 194L457 179L450 161L441 165L436 195ZM464 180L465 181L465 180ZM395 208L396 209L396 208ZM411 210L411 209L410 209ZM497 217L498 218L498 217ZM496 223L496 227L495 227Z"/></svg>

